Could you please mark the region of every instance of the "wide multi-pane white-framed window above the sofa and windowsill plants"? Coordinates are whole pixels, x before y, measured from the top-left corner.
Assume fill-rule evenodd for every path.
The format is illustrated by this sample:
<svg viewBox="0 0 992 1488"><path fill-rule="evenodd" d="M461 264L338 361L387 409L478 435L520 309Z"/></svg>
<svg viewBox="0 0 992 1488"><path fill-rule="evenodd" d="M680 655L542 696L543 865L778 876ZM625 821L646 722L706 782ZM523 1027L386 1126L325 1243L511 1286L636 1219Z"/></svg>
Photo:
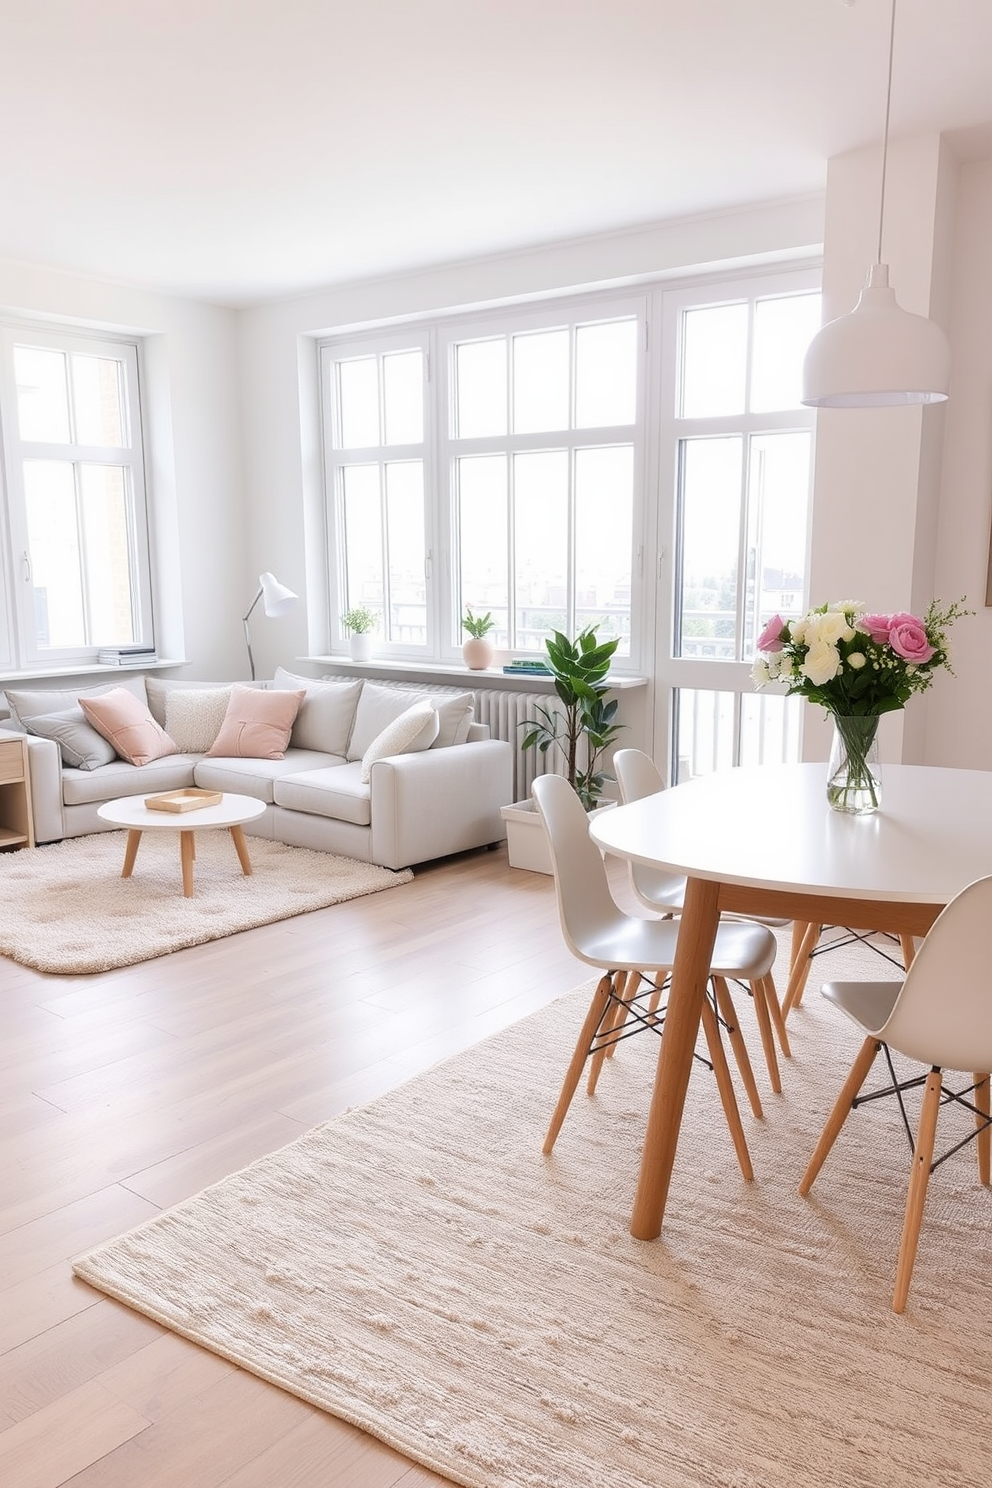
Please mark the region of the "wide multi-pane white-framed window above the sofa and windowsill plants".
<svg viewBox="0 0 992 1488"><path fill-rule="evenodd" d="M454 662L470 609L518 655L596 625L632 664L645 321L577 296L321 345L332 646L367 604L379 655Z"/></svg>

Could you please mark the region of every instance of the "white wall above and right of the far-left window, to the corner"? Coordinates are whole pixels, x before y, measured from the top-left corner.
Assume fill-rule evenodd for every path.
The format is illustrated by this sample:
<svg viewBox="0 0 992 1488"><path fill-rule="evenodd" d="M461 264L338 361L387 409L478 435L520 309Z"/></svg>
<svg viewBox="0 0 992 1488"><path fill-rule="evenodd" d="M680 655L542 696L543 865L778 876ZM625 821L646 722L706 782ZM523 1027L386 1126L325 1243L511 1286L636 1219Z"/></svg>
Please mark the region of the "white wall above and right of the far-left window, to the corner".
<svg viewBox="0 0 992 1488"><path fill-rule="evenodd" d="M244 676L241 616L254 591L245 592L236 312L6 260L0 312L147 338L141 376L159 650L189 661L186 677Z"/></svg>

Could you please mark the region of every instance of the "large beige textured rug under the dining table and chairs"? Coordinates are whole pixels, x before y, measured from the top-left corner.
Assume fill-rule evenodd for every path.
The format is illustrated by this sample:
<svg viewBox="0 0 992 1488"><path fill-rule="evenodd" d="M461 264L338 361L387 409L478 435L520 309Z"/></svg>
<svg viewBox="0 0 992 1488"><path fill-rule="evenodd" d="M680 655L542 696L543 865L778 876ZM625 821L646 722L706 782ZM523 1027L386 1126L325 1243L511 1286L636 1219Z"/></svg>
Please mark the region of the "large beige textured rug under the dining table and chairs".
<svg viewBox="0 0 992 1488"><path fill-rule="evenodd" d="M892 1113L854 1113L812 1199L796 1193L858 1042L811 988L784 1095L763 1123L745 1116L756 1181L696 1067L662 1240L635 1241L650 1036L620 1048L595 1100L580 1088L540 1155L587 995L318 1126L77 1275L470 1488L985 1482L992 1196L974 1149L934 1176L897 1317L909 1150Z"/></svg>

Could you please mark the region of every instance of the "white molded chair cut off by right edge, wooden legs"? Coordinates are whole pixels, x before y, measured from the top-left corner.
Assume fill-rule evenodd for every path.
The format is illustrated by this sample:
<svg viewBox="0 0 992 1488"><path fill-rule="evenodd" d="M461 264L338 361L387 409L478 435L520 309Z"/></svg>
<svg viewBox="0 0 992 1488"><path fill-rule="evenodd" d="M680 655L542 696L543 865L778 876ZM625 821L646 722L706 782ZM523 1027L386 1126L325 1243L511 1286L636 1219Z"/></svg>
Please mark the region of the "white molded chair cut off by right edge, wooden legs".
<svg viewBox="0 0 992 1488"><path fill-rule="evenodd" d="M934 1161L937 1113L940 1106L958 1103L974 1113L974 1129L964 1138L977 1138L979 1178L989 1184L992 1131L989 1117L989 1070L992 1070L992 995L989 992L989 923L992 921L992 878L980 878L953 899L935 920L913 958L903 982L828 982L824 997L852 1019L867 1039L827 1119L799 1192L809 1193L824 1159L833 1147L848 1112L858 1101L869 1070L879 1049L885 1051L892 1085L861 1097L897 1095L913 1149L906 1219L895 1268L892 1309L906 1306L916 1260L919 1229L930 1174L943 1162ZM928 1074L898 1080L889 1049L930 1065ZM943 1070L973 1073L973 1085L950 1091L943 1085ZM916 1138L913 1140L903 1091L925 1086ZM973 1097L970 1100L970 1097ZM964 1143L956 1143L956 1152ZM949 1156L950 1153L944 1153Z"/></svg>

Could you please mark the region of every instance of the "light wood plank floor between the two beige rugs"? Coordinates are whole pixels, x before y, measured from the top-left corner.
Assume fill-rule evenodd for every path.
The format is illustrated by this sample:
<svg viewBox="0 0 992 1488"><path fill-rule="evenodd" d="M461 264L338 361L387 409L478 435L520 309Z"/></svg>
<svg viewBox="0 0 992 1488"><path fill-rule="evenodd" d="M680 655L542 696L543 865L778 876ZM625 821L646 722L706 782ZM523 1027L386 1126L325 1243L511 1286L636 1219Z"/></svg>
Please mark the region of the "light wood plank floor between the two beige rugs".
<svg viewBox="0 0 992 1488"><path fill-rule="evenodd" d="M504 848L120 972L0 958L0 1484L440 1484L68 1260L587 975Z"/></svg>

